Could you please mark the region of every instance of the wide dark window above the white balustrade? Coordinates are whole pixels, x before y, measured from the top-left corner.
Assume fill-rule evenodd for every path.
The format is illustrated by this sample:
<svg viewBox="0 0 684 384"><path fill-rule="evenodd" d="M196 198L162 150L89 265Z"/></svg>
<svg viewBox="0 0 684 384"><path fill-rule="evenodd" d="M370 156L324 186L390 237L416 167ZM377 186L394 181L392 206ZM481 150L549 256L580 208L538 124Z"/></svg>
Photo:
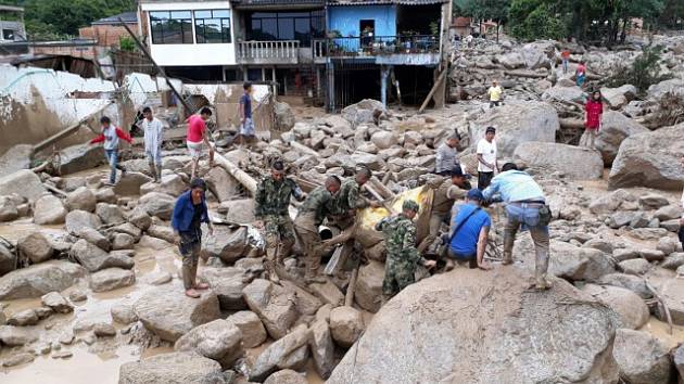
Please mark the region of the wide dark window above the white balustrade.
<svg viewBox="0 0 684 384"><path fill-rule="evenodd" d="M325 13L254 12L248 15L249 40L299 40L309 47L312 39L325 36Z"/></svg>

